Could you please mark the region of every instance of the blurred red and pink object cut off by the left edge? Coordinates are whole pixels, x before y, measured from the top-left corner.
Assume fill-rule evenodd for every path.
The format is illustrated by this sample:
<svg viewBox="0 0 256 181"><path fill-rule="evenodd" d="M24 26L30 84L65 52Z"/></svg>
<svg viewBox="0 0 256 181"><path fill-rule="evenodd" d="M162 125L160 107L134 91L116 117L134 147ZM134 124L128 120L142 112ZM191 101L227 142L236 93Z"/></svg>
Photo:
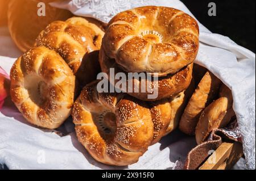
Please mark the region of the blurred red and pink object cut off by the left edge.
<svg viewBox="0 0 256 181"><path fill-rule="evenodd" d="M2 108L5 98L7 97L9 92L9 87L7 86L9 81L9 75L0 66L0 109Z"/></svg>

